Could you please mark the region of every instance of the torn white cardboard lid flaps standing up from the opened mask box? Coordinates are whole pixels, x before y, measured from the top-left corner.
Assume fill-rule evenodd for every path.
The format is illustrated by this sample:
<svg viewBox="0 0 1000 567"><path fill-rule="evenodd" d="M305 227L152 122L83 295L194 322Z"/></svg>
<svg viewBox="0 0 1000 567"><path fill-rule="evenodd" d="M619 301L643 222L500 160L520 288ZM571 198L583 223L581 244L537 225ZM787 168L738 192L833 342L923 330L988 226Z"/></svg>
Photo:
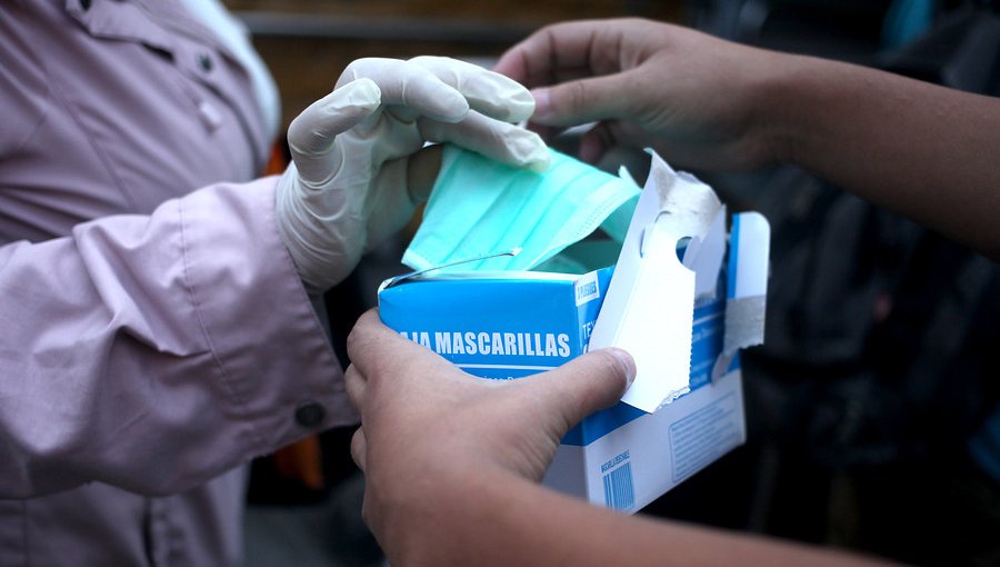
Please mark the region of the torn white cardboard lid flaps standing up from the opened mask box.
<svg viewBox="0 0 1000 567"><path fill-rule="evenodd" d="M632 355L636 380L621 399L647 412L689 391L694 301L714 292L727 245L726 208L714 191L650 153L650 175L590 340L591 349L619 347ZM727 336L717 370L739 348L763 341L769 241L761 215L734 218Z"/></svg>

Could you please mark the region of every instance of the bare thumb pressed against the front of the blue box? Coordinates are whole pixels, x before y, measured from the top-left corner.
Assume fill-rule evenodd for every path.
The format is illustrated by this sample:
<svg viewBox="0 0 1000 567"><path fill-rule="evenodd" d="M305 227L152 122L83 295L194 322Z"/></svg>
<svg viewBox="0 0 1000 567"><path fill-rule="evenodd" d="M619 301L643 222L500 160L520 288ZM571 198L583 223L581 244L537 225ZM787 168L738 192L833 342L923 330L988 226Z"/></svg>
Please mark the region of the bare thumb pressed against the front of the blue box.
<svg viewBox="0 0 1000 567"><path fill-rule="evenodd" d="M536 395L559 411L567 428L617 402L636 378L636 362L619 348L588 352L537 379Z"/></svg>

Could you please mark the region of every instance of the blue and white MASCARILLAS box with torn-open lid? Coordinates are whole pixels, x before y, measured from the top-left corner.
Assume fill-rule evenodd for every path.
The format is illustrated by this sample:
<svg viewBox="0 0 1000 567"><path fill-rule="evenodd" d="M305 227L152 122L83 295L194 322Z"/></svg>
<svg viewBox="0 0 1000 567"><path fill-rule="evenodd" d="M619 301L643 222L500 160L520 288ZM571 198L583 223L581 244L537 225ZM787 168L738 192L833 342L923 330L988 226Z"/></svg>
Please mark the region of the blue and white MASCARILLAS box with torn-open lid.
<svg viewBox="0 0 1000 567"><path fill-rule="evenodd" d="M632 354L622 401L562 439L544 484L636 511L746 440L739 348L763 338L769 228L653 156L614 268L387 280L382 321L466 371L512 379L588 348Z"/></svg>

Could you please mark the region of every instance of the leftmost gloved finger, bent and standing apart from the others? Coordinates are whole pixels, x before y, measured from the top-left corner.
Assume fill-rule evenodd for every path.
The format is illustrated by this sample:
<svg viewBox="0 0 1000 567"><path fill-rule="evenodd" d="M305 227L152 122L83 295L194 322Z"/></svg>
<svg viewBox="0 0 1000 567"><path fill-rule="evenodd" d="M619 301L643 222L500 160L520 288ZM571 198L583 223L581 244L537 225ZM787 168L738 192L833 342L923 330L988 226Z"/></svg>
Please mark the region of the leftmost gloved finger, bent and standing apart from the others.
<svg viewBox="0 0 1000 567"><path fill-rule="evenodd" d="M344 132L381 105L381 90L370 79L358 79L309 106L288 128L288 146L303 183L317 189L337 175L331 153L337 135ZM333 156L333 162L340 159Z"/></svg>

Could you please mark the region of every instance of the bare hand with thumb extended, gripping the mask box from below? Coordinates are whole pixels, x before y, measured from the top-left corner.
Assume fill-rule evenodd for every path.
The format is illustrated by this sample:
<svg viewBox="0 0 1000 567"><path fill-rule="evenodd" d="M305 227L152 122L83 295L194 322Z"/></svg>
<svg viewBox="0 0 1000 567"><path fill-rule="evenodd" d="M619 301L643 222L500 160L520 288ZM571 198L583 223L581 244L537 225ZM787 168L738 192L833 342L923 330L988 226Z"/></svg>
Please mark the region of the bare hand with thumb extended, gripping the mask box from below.
<svg viewBox="0 0 1000 567"><path fill-rule="evenodd" d="M540 480L566 431L616 402L636 374L628 354L607 349L527 378L476 378L383 326L377 310L358 320L348 354L348 394L361 412L351 454L366 472L362 514L392 548L436 529L429 518L454 483Z"/></svg>

